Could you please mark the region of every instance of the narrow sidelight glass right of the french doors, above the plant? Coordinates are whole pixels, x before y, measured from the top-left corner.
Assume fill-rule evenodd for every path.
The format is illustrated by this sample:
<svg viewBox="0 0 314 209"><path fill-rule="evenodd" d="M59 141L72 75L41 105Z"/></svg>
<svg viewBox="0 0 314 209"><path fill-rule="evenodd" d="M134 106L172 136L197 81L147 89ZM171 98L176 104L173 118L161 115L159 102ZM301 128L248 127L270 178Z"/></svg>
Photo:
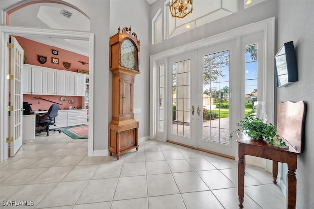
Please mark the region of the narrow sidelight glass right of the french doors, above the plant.
<svg viewBox="0 0 314 209"><path fill-rule="evenodd" d="M245 116L256 116L257 44L245 46Z"/></svg>

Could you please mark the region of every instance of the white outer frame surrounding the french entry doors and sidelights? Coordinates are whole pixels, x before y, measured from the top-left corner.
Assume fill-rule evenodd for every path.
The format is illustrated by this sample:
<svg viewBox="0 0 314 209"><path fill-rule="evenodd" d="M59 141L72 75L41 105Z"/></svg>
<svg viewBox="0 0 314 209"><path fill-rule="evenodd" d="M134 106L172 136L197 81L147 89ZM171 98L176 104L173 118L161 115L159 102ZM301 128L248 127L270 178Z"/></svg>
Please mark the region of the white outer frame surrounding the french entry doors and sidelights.
<svg viewBox="0 0 314 209"><path fill-rule="evenodd" d="M169 49L167 51L163 51L154 55L151 55L150 58L150 69L151 69L151 76L150 76L150 106L152 107L150 110L150 139L157 139L156 134L156 123L157 121L157 64L160 63L160 61L164 62L165 64L165 71L168 70L168 63L167 59L168 57L182 54L187 51L193 51L197 50L199 48L211 46L214 43L217 42L223 42L228 40L237 40L238 46L242 46L241 44L241 38L246 37L252 34L262 33L263 34L263 46L264 46L264 53L263 57L264 59L261 60L263 62L263 94L265 96L266 102L266 113L268 116L268 122L273 122L274 120L274 46L275 46L275 18L269 18L266 20L262 20L257 23L251 23L249 25L245 25L230 31L226 31L217 35L210 36L208 38L186 44L184 46L178 46L176 48ZM239 51L241 52L241 51ZM238 69L242 69L242 62L238 62ZM244 74L242 75L244 76ZM244 85L244 84L241 84ZM242 95L244 96L244 88ZM167 92L167 87L165 87L165 91ZM232 95L232 94L231 94ZM242 99L242 102L244 103L244 100ZM239 104L239 107L242 107L243 104ZM167 109L165 108L164 114L167 116ZM243 110L244 112L244 110ZM240 120L241 116L239 115L238 120ZM165 117L166 118L166 117ZM165 121L164 126L167 127L167 121ZM165 133L165 138L167 133ZM163 139L163 141L166 141L167 139ZM237 150L235 153L235 156L238 156ZM237 158L237 157L236 157ZM267 163L267 168L269 167ZM271 167L271 166L270 166ZM268 169L267 169L268 170Z"/></svg>

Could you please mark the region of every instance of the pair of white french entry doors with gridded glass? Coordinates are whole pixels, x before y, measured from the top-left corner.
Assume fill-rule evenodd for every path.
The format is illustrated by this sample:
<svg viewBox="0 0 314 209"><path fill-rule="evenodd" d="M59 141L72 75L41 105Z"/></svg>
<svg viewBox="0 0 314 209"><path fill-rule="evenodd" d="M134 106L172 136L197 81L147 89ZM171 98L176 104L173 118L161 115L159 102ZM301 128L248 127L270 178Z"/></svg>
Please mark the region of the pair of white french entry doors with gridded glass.
<svg viewBox="0 0 314 209"><path fill-rule="evenodd" d="M228 42L169 59L168 140L235 156L236 142L229 140L240 97L234 50ZM231 88L239 89L232 97Z"/></svg>

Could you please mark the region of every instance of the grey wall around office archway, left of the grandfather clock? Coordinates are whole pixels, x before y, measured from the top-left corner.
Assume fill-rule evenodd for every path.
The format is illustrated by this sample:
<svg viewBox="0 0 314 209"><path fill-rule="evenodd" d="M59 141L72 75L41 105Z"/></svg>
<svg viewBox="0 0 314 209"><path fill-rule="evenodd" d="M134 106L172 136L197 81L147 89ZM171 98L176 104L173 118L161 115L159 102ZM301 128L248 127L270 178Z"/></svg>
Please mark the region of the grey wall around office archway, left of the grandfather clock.
<svg viewBox="0 0 314 209"><path fill-rule="evenodd" d="M81 9L91 21L94 37L94 150L108 149L109 119L109 14L108 0L66 0ZM0 9L16 3L16 0L1 0Z"/></svg>

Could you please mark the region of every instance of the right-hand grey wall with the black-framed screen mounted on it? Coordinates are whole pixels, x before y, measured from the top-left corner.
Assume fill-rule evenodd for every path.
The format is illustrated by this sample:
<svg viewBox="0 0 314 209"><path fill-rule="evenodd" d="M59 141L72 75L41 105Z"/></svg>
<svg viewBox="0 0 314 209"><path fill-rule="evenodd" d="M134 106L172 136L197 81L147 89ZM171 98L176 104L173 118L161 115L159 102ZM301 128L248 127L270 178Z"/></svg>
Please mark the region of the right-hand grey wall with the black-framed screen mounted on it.
<svg viewBox="0 0 314 209"><path fill-rule="evenodd" d="M278 88L277 101L307 103L305 149L298 156L297 208L314 208L314 1L278 1L277 49L293 41L298 58L299 81Z"/></svg>

